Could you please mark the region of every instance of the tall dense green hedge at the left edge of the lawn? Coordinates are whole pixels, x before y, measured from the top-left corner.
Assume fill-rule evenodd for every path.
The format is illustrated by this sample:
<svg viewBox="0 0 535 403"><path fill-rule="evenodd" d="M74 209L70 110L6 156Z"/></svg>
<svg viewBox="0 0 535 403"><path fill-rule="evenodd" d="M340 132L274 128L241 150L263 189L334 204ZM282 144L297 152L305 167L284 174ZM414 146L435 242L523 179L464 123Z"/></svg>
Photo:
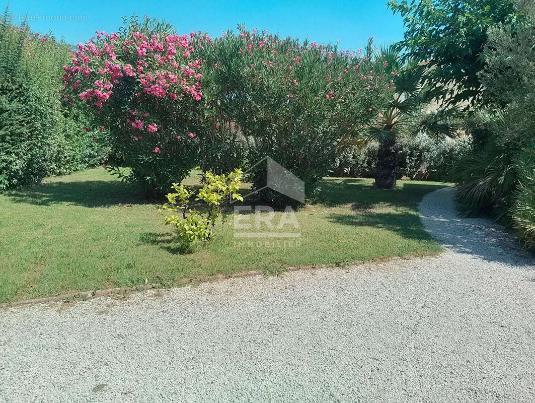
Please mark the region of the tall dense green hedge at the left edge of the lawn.
<svg viewBox="0 0 535 403"><path fill-rule="evenodd" d="M96 165L106 153L82 130L83 112L59 102L62 64L70 50L51 35L0 25L0 191ZM98 135L98 134L97 134Z"/></svg>

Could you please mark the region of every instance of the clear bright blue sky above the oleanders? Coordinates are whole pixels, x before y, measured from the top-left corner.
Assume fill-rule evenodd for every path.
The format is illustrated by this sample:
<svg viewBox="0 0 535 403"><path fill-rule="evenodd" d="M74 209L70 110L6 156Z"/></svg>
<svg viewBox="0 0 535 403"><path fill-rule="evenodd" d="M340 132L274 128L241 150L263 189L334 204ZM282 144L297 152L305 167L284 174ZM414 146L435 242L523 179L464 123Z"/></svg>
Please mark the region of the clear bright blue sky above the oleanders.
<svg viewBox="0 0 535 403"><path fill-rule="evenodd" d="M362 48L372 35L375 35L376 44L402 38L401 18L387 10L386 2L11 0L10 10L16 20L28 13L32 31L52 32L58 39L64 37L73 44L89 39L95 29L116 31L121 25L121 17L135 11L139 16L148 14L165 18L177 27L180 34L204 31L211 36L220 36L225 29L235 28L239 22L245 22L248 28L267 29L284 36L300 39L308 36L316 42L340 40L342 49L356 50ZM66 21L52 21L56 16Z"/></svg>

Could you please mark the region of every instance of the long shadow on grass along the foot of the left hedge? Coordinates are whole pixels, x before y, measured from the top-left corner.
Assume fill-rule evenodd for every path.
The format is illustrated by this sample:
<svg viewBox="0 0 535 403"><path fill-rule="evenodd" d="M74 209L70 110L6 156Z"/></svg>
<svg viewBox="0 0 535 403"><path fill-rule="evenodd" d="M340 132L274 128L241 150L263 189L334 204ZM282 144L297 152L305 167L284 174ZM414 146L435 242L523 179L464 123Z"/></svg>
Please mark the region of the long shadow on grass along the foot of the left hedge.
<svg viewBox="0 0 535 403"><path fill-rule="evenodd" d="M30 186L4 193L12 201L51 206L64 203L85 207L109 207L116 204L150 204L139 190L120 181L86 180L76 182L52 182Z"/></svg>

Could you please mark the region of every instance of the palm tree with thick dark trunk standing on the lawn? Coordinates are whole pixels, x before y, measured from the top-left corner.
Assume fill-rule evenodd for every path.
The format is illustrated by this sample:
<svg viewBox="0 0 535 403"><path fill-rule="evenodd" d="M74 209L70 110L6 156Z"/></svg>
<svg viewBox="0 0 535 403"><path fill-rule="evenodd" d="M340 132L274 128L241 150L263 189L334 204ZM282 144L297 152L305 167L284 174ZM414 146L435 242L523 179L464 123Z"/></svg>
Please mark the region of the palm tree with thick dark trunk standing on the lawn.
<svg viewBox="0 0 535 403"><path fill-rule="evenodd" d="M390 189L396 184L398 174L398 136L401 134L417 135L420 132L438 137L453 138L457 127L451 118L458 113L457 108L438 109L425 112L430 103L446 94L445 87L433 87L422 79L425 65L418 65L409 60L400 66L400 57L392 47L380 49L381 55L397 72L395 93L386 110L378 113L378 121L371 125L366 133L367 140L379 142L375 184L379 188Z"/></svg>

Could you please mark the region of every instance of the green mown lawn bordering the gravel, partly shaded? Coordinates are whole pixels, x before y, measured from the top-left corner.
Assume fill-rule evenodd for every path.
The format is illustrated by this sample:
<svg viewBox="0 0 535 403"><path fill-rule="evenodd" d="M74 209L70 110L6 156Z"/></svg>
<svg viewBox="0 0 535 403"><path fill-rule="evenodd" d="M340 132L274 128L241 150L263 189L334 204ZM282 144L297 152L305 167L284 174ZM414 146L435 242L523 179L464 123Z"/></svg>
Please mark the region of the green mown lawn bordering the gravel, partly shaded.
<svg viewBox="0 0 535 403"><path fill-rule="evenodd" d="M187 183L195 185L195 178ZM49 178L0 195L0 301L146 279L172 285L218 273L436 254L440 246L424 231L417 204L444 186L400 181L381 191L370 179L326 179L315 200L296 212L300 229L289 229L301 232L300 246L284 245L284 239L278 240L282 246L266 247L266 239L240 246L233 226L225 225L209 246L190 253L162 224L154 201L104 170ZM274 224L281 214L275 213ZM254 230L263 231L269 230Z"/></svg>

